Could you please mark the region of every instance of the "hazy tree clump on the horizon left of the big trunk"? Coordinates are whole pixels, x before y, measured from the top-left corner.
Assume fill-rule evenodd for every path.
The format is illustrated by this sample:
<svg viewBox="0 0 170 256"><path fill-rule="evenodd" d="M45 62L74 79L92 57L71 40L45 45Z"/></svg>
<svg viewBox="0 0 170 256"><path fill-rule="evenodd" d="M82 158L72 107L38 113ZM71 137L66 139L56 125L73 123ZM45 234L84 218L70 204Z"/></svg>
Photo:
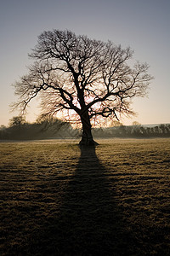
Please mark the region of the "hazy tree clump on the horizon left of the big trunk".
<svg viewBox="0 0 170 256"><path fill-rule="evenodd" d="M70 123L60 119L47 119L40 117L30 124L22 116L9 120L8 127L0 127L1 140L31 140L46 138L77 137L77 131Z"/></svg>

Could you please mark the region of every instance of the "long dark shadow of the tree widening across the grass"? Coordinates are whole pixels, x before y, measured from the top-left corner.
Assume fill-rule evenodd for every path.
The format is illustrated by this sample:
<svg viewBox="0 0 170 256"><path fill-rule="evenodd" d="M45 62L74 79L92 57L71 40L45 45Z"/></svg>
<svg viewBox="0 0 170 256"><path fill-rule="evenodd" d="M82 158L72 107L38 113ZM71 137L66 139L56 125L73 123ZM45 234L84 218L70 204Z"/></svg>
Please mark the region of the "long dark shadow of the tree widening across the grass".
<svg viewBox="0 0 170 256"><path fill-rule="evenodd" d="M124 255L129 236L95 148L81 148L59 218L46 227L43 255ZM50 239L49 239L50 237Z"/></svg>

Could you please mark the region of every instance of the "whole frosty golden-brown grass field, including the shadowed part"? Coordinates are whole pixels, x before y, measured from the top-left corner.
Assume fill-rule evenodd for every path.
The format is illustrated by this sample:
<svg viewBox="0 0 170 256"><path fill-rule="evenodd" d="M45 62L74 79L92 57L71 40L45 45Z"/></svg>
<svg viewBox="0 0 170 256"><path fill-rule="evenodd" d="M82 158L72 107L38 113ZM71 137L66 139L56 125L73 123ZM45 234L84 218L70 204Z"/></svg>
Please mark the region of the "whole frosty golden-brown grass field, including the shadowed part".
<svg viewBox="0 0 170 256"><path fill-rule="evenodd" d="M0 143L0 255L170 255L170 139Z"/></svg>

